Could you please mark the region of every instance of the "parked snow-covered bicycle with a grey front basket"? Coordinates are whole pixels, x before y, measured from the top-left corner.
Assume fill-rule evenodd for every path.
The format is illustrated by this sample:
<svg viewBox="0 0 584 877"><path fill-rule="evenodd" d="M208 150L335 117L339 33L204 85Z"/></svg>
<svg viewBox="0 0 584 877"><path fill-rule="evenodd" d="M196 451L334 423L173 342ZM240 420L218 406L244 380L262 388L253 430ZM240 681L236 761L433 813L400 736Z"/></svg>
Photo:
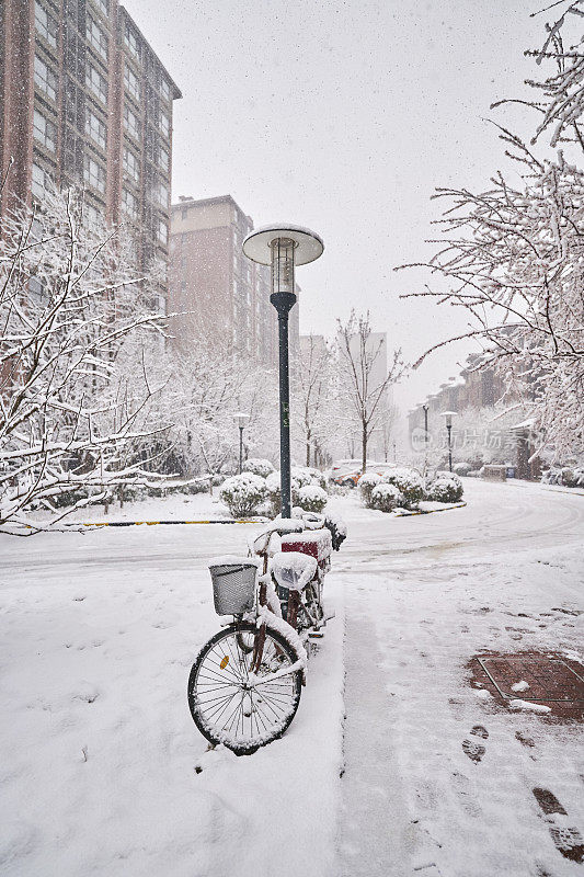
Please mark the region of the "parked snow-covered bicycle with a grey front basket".
<svg viewBox="0 0 584 877"><path fill-rule="evenodd" d="M188 677L188 706L210 743L250 754L282 737L298 704L307 640L322 636L331 550L345 537L339 521L304 514L276 519L248 557L209 561L215 610L233 616L201 649Z"/></svg>

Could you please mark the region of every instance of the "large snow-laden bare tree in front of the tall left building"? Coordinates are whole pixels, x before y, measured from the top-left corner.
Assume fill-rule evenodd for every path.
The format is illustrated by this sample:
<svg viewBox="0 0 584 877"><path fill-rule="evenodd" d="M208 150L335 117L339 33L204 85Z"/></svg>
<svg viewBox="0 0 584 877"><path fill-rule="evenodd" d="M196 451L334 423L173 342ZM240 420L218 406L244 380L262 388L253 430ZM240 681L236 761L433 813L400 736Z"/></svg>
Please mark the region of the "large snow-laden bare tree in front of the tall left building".
<svg viewBox="0 0 584 877"><path fill-rule="evenodd" d="M131 403L118 357L160 328L122 234L91 229L81 193L47 193L7 219L0 241L0 527L47 528L117 485L152 477L121 452L152 397ZM138 394L136 394L138 396ZM150 429L151 433L152 430ZM80 499L80 491L84 497ZM71 498L72 505L60 506ZM48 514L31 517L33 510ZM22 531L20 531L22 532Z"/></svg>

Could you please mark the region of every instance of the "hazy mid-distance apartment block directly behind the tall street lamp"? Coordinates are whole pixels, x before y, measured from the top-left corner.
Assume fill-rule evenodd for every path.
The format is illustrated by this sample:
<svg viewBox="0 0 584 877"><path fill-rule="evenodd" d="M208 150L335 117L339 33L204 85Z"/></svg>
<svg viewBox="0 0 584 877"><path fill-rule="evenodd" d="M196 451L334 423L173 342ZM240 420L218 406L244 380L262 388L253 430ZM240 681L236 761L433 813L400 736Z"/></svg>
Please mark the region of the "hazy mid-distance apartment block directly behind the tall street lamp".
<svg viewBox="0 0 584 877"><path fill-rule="evenodd" d="M270 267L251 262L241 244L251 217L231 195L171 207L169 304L175 349L201 343L251 356L267 367L278 360L277 316L270 301ZM299 305L290 311L293 362L299 352Z"/></svg>

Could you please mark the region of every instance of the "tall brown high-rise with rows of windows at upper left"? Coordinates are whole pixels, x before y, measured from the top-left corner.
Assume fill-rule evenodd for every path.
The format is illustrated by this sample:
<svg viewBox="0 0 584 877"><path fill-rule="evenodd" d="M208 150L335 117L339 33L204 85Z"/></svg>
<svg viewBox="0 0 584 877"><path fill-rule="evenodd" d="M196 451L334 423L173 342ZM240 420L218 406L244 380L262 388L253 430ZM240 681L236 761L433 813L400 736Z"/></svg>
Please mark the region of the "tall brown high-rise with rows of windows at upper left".
<svg viewBox="0 0 584 877"><path fill-rule="evenodd" d="M117 0L2 0L0 215L82 186L90 219L125 223L136 266L164 276L180 96Z"/></svg>

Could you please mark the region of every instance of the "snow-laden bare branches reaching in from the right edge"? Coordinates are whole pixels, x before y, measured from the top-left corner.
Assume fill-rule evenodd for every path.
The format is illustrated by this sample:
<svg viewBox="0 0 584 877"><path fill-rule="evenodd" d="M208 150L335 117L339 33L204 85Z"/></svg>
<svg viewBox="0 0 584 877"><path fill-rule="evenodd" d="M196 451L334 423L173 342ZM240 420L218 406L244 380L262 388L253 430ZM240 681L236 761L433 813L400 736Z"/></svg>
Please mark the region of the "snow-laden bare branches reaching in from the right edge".
<svg viewBox="0 0 584 877"><path fill-rule="evenodd" d="M543 113L534 141L553 126L551 145L582 148L584 55L577 47L563 50L568 13L582 15L571 3L548 26L543 49L528 53L538 62L558 64L557 76L531 82L545 100L529 105ZM413 295L468 314L468 331L431 350L462 338L478 341L483 349L478 368L494 366L504 377L508 405L533 419L539 433L535 453L548 448L561 456L584 444L584 173L562 152L540 158L499 128L519 183L497 172L486 192L437 190L435 197L446 198L448 207L437 221L438 250L425 266L447 289L440 282L439 288Z"/></svg>

